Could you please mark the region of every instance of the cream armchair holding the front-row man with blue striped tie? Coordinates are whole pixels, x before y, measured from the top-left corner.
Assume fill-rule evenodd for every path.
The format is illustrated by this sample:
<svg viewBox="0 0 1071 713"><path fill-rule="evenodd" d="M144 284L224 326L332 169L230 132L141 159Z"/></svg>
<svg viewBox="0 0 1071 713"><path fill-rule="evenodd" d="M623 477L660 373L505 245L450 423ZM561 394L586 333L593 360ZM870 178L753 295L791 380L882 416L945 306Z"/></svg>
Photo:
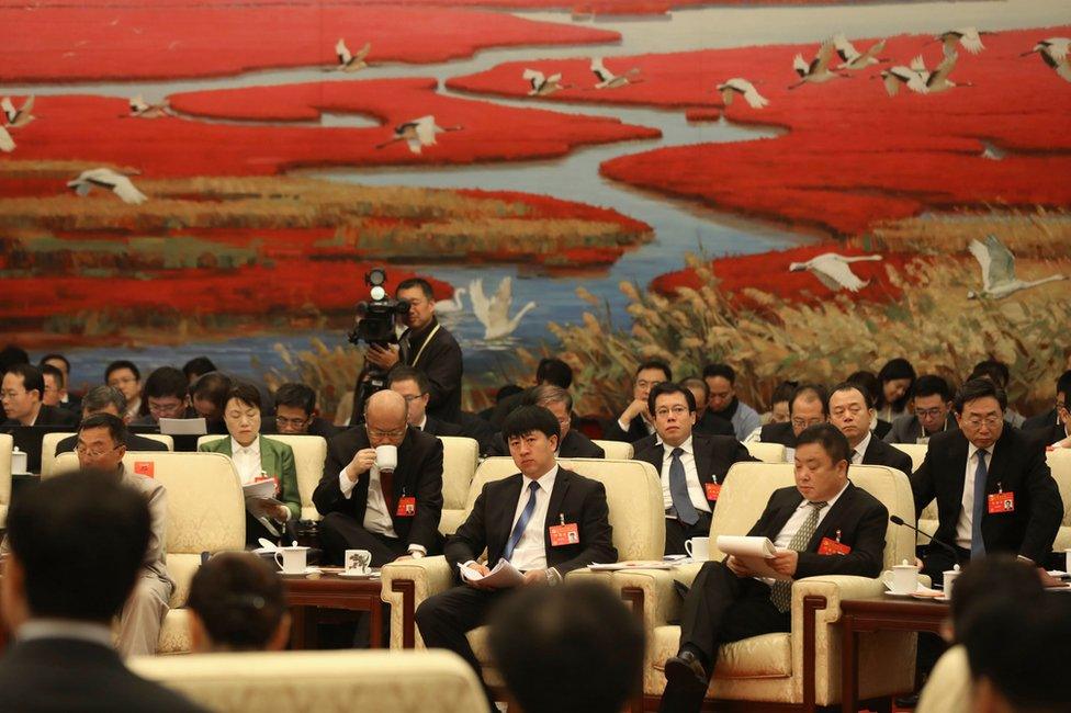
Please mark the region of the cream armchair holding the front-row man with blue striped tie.
<svg viewBox="0 0 1071 713"><path fill-rule="evenodd" d="M621 559L662 558L666 537L662 485L650 463L601 459L560 459L559 463L606 487L613 546ZM509 457L491 457L481 463L465 499L465 516L485 484L514 473L517 466ZM425 599L453 586L452 574L442 556L405 559L383 567L383 601L391 604L391 648L424 646L413 614ZM476 657L484 663L485 678L496 684L496 674L487 666L484 631L477 629L469 637Z"/></svg>

